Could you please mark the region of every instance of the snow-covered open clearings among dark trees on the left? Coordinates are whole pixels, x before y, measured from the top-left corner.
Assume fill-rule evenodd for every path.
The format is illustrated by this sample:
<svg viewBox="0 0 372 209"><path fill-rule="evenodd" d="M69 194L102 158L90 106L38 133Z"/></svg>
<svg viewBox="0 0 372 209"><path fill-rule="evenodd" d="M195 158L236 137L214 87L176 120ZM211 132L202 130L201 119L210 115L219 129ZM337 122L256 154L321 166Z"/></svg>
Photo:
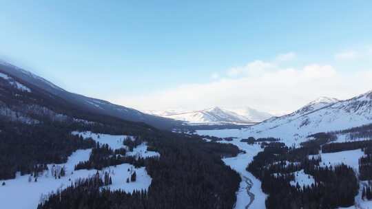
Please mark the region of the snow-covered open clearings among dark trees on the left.
<svg viewBox="0 0 372 209"><path fill-rule="evenodd" d="M126 135L107 135L101 133L87 132L76 132L73 134L81 135L85 138L92 137L96 142L101 144L108 144L110 148L123 148L123 140L130 139L130 136ZM134 192L135 190L147 190L151 184L152 178L147 175L145 167L135 168L132 164L121 164L118 166L109 166L103 168L103 170L96 169L81 169L74 170L74 166L79 162L87 161L90 157L92 149L77 150L70 157L68 162L65 164L48 164L48 170L39 173L38 177L31 177L31 175L17 175L15 179L8 179L0 181L1 184L4 182L4 186L0 186L0 208L14 208L14 209L34 209L41 201L48 199L48 196L55 193L57 190L63 190L64 188L74 184L79 179L92 177L96 173L100 173L103 177L104 173L107 172L112 177L112 184L105 186L110 190L124 190L125 192ZM154 151L147 151L145 143L134 148L132 152L128 152L127 155L138 156L138 157L158 157L159 153ZM55 177L53 170L63 168L65 175L61 177ZM136 173L136 181L126 182L127 178L130 178L132 173ZM14 201L22 197L21 201Z"/></svg>

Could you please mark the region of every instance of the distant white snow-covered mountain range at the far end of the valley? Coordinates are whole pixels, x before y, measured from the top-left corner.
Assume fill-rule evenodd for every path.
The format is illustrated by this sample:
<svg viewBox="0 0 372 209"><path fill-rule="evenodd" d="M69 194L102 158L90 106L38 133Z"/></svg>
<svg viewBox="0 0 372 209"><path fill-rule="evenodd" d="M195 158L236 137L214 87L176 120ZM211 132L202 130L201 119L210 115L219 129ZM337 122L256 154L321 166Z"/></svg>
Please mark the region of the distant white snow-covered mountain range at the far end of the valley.
<svg viewBox="0 0 372 209"><path fill-rule="evenodd" d="M254 109L245 109L245 115L240 115L220 107L199 111L167 110L146 112L165 118L182 120L189 124L254 124L271 117L268 113L261 113Z"/></svg>

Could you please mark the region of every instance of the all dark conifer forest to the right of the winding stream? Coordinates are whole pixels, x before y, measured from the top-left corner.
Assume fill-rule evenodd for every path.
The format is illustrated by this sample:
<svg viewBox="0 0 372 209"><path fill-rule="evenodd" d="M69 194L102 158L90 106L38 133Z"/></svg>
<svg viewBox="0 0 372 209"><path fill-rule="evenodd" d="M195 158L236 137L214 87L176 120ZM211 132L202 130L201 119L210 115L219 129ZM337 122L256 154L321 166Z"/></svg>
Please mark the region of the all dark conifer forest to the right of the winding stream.
<svg viewBox="0 0 372 209"><path fill-rule="evenodd" d="M334 142L337 133L352 133L362 138L369 137L371 126L361 126L346 131L316 133L311 140L302 142L298 148L287 147L281 142L261 142L263 151L254 157L247 170L262 181L262 190L269 197L267 208L339 208L354 205L360 181L372 180L372 140ZM257 143L253 137L242 140ZM337 153L362 149L359 173L340 163L337 166L322 163L322 153ZM313 155L315 157L309 157ZM303 170L314 179L310 185L300 186L296 182L296 171ZM362 186L362 199L372 199L372 186Z"/></svg>

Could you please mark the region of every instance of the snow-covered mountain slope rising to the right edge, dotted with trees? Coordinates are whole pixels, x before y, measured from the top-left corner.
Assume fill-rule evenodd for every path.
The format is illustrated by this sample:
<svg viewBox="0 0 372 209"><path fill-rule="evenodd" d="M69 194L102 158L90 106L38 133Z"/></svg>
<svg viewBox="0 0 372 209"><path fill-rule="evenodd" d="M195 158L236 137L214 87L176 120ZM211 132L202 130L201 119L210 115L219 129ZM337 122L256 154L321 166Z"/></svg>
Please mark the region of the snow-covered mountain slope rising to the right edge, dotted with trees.
<svg viewBox="0 0 372 209"><path fill-rule="evenodd" d="M339 131L372 123L372 91L349 100L319 98L289 115L270 118L249 127L244 135L276 136L289 144L308 135Z"/></svg>

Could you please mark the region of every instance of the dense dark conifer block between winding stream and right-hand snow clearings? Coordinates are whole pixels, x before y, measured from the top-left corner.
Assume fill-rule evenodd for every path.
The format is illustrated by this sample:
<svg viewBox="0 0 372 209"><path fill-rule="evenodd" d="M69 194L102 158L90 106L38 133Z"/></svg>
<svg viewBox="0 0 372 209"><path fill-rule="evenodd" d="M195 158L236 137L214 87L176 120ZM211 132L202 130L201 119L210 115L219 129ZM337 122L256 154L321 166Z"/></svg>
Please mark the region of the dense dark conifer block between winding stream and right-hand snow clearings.
<svg viewBox="0 0 372 209"><path fill-rule="evenodd" d="M312 149L312 148L311 148ZM353 206L358 194L358 179L352 168L320 166L320 159L309 159L306 147L288 148L273 142L254 157L247 170L262 181L263 192L269 194L267 208L338 208ZM285 162L289 162L289 164ZM280 162L280 163L276 163ZM315 184L296 186L294 172L304 173L315 179Z"/></svg>

